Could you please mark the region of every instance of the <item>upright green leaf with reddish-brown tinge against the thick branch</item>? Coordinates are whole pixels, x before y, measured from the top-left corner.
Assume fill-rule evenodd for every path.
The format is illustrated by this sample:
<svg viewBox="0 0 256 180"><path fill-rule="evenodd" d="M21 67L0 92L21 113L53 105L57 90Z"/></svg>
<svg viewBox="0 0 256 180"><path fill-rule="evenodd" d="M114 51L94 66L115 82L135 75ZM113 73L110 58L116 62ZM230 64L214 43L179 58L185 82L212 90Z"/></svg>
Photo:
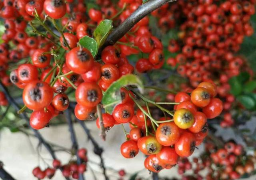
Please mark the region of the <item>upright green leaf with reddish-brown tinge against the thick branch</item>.
<svg viewBox="0 0 256 180"><path fill-rule="evenodd" d="M105 19L100 22L98 27L94 30L93 36L98 44L98 47L102 46L102 44L105 42L112 28L112 20Z"/></svg>

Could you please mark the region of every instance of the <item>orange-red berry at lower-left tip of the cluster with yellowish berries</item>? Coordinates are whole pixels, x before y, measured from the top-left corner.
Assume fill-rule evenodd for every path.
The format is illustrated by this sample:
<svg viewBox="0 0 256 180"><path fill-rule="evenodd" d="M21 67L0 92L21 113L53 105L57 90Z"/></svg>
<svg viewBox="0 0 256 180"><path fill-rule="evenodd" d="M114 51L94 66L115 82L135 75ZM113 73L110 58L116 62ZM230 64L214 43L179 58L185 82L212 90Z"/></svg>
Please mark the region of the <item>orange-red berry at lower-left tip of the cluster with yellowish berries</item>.
<svg viewBox="0 0 256 180"><path fill-rule="evenodd" d="M134 158L139 152L137 142L133 140L128 140L124 142L121 145L120 150L122 156L124 156L125 158Z"/></svg>

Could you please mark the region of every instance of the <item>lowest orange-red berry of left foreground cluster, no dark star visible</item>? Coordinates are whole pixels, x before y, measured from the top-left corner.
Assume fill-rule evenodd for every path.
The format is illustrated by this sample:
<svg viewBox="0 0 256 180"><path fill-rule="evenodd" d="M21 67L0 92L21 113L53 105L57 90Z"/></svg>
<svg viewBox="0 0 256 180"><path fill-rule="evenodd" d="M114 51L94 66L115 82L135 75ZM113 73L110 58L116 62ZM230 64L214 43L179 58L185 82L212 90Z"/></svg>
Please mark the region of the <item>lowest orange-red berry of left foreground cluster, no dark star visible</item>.
<svg viewBox="0 0 256 180"><path fill-rule="evenodd" d="M52 112L50 111L34 111L30 116L30 126L36 130L44 128L51 120Z"/></svg>

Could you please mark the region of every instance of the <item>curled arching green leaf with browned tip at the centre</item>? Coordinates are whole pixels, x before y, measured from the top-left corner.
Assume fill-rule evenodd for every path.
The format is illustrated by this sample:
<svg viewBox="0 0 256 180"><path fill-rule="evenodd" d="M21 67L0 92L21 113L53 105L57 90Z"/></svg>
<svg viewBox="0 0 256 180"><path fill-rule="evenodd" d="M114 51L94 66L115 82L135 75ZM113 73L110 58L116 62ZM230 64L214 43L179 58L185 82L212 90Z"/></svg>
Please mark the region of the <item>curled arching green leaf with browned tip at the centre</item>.
<svg viewBox="0 0 256 180"><path fill-rule="evenodd" d="M111 114L116 105L120 104L122 101L120 88L124 86L135 85L138 87L141 93L144 91L144 86L140 78L134 74L124 75L117 81L113 82L110 87L106 90L103 98L102 104L106 112Z"/></svg>

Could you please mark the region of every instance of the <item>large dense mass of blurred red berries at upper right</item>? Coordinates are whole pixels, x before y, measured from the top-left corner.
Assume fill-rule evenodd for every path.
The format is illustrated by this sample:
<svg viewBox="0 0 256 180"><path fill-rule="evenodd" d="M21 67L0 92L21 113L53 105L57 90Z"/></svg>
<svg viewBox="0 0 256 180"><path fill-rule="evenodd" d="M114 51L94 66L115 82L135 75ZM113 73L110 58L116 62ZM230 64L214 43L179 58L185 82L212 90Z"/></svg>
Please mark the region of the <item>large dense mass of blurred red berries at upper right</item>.
<svg viewBox="0 0 256 180"><path fill-rule="evenodd" d="M235 99L230 94L228 80L241 71L253 74L246 60L236 52L244 36L254 32L249 20L255 13L255 3L254 0L221 3L217 0L181 0L152 13L160 18L159 26L163 29L182 20L179 39L171 39L168 46L171 53L178 54L168 58L167 63L173 67L177 65L178 73L188 77L193 87L206 80L219 85L218 95L223 99L226 111L220 123L222 127L234 124L228 111ZM175 22L175 19L178 20Z"/></svg>

